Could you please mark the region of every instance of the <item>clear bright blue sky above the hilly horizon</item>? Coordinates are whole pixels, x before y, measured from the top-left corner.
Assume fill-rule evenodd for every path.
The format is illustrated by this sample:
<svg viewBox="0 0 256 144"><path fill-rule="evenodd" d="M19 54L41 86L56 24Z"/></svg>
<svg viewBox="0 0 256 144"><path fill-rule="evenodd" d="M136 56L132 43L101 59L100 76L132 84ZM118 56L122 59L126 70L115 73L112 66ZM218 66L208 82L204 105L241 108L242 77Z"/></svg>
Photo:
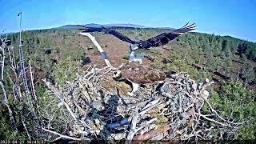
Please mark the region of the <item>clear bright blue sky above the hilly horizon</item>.
<svg viewBox="0 0 256 144"><path fill-rule="evenodd" d="M254 0L0 0L0 30L18 31L66 24L133 23L178 28L196 22L198 32L231 35L256 42Z"/></svg>

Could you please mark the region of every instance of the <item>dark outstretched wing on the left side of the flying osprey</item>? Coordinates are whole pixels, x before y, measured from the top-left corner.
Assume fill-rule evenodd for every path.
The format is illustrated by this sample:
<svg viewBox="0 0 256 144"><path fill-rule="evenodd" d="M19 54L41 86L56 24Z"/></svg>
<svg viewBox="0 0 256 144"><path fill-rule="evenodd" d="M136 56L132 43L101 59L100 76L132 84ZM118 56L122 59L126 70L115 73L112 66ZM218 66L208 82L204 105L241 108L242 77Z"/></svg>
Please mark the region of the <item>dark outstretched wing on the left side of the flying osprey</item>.
<svg viewBox="0 0 256 144"><path fill-rule="evenodd" d="M81 26L81 25L78 25ZM134 44L135 41L131 40L130 38L126 37L125 35L119 33L116 30L110 29L110 28L106 28L106 27L86 27L86 26L81 26L82 28L79 30L83 30L83 33L92 33L92 32L103 32L105 34L111 34L114 35L114 37L119 38L120 40L124 41L124 42L129 42L131 44Z"/></svg>

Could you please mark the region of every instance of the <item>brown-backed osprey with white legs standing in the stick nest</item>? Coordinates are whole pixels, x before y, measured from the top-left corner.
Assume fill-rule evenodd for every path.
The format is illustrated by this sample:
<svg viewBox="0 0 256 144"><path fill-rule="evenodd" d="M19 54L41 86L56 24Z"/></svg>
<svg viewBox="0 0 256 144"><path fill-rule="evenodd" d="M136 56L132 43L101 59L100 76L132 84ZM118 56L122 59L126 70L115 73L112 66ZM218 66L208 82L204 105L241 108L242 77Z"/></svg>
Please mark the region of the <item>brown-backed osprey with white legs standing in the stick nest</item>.
<svg viewBox="0 0 256 144"><path fill-rule="evenodd" d="M126 64L117 70L114 74L114 79L130 82L133 90L128 94L134 95L140 85L162 83L166 79L166 74L161 70L155 70L147 66Z"/></svg>

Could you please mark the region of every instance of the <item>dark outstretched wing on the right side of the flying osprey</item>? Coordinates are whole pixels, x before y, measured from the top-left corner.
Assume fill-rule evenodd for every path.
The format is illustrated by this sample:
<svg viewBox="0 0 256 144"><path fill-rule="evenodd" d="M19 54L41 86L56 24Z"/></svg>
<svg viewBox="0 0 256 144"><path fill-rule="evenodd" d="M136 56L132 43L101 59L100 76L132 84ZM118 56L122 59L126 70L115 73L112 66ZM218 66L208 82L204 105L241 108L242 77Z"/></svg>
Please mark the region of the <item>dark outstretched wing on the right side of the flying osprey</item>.
<svg viewBox="0 0 256 144"><path fill-rule="evenodd" d="M170 33L162 33L159 34L153 38L150 38L146 41L142 41L142 48L150 48L150 47L157 47L157 46L163 46L166 45L168 42L174 40L174 38L177 38L181 34L185 34L191 30L195 30L196 26L193 24L189 25L187 23L185 26L182 26L179 29L173 30Z"/></svg>

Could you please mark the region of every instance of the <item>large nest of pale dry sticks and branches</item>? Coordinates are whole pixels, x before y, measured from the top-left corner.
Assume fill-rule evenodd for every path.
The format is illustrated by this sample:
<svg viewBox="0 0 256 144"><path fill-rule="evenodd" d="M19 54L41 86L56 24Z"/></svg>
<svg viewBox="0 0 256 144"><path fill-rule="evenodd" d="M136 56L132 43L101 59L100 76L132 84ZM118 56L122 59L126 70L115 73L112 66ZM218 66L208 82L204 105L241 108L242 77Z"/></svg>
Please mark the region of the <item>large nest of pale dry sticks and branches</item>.
<svg viewBox="0 0 256 144"><path fill-rule="evenodd" d="M236 123L222 118L208 102L213 82L195 82L186 73L171 74L162 85L140 87L135 97L130 86L116 82L115 69L90 66L86 74L58 89L46 82L72 116L69 133L42 126L56 138L73 140L208 140L231 138ZM208 105L211 114L202 114ZM230 131L230 134L224 133Z"/></svg>

